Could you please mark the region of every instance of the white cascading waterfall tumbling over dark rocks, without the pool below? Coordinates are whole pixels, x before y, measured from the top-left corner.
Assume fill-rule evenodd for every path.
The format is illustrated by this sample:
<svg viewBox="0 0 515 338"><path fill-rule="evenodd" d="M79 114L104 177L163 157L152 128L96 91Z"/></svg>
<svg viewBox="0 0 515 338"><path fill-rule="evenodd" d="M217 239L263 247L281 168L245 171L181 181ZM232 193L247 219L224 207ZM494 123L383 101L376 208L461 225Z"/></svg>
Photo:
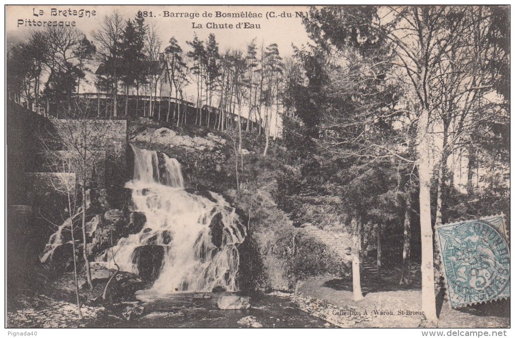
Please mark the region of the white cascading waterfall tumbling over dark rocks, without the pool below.
<svg viewBox="0 0 515 338"><path fill-rule="evenodd" d="M134 175L126 187L132 190L133 211L144 212L147 221L140 233L120 239L97 260L139 273L138 259L151 248L163 257L155 292L236 290L236 245L246 234L234 208L214 192L211 199L186 192L175 158L131 148Z"/></svg>

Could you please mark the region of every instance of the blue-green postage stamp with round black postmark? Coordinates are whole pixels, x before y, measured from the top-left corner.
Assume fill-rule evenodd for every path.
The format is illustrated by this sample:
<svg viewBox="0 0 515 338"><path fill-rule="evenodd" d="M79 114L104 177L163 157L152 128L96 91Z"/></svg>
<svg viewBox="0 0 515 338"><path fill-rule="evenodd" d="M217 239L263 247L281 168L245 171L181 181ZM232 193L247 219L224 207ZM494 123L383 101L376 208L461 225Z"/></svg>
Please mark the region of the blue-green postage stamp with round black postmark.
<svg viewBox="0 0 515 338"><path fill-rule="evenodd" d="M510 296L510 256L504 215L436 228L450 304L465 307Z"/></svg>

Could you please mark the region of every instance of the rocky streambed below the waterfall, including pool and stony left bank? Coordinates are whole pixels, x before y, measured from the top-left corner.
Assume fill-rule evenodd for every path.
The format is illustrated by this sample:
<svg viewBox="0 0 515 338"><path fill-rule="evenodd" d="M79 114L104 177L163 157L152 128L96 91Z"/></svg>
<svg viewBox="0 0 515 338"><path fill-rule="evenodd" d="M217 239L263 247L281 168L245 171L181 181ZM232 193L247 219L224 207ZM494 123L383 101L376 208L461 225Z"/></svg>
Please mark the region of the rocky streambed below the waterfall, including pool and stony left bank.
<svg viewBox="0 0 515 338"><path fill-rule="evenodd" d="M84 306L83 319L77 307L64 301L48 301L38 309L8 313L8 327L170 327L170 328L299 328L334 327L301 311L291 294L255 293L242 300L241 309L222 310L218 300L234 293L178 293L155 295L139 292L138 301L106 307ZM239 297L239 296L236 296ZM247 307L247 297L250 306Z"/></svg>

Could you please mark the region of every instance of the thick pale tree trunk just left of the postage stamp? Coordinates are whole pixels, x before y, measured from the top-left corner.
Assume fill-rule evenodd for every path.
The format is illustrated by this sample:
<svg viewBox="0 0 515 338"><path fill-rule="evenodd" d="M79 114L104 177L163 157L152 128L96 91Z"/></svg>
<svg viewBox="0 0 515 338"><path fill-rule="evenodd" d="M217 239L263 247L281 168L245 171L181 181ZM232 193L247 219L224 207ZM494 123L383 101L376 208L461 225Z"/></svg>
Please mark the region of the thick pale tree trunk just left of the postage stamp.
<svg viewBox="0 0 515 338"><path fill-rule="evenodd" d="M420 200L420 237L421 237L421 273L422 273L422 307L428 322L437 323L435 298L435 271L433 256L433 228L431 225L431 170L430 144L427 135L429 110L422 109L418 130L418 169L419 169L419 200Z"/></svg>

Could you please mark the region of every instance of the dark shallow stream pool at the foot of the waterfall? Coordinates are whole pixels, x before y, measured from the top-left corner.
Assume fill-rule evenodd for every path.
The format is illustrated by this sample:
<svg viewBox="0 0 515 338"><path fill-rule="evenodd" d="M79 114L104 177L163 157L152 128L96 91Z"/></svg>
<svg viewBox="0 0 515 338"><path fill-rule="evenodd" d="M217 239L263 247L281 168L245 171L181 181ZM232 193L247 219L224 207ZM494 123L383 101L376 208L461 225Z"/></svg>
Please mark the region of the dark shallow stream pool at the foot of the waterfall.
<svg viewBox="0 0 515 338"><path fill-rule="evenodd" d="M194 298L192 293L155 295L140 291L144 299L143 313L138 318L125 319L105 315L88 327L102 328L237 328L248 327L237 322L254 316L264 328L322 328L325 321L300 309L289 297L254 293L251 307L245 310L220 310L218 297L235 293L203 293L211 298Z"/></svg>

